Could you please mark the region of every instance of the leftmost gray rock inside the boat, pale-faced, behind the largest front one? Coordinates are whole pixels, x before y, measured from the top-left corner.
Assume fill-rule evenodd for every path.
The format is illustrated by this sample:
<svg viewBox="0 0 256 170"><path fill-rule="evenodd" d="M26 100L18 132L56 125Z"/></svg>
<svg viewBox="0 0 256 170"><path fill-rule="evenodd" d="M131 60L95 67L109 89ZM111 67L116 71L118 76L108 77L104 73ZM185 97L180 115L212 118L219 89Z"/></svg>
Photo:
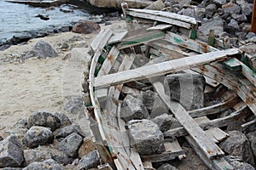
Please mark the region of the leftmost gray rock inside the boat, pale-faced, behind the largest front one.
<svg viewBox="0 0 256 170"><path fill-rule="evenodd" d="M148 118L149 114L146 107L143 105L141 96L133 96L128 94L121 107L121 117L128 122L132 119Z"/></svg>

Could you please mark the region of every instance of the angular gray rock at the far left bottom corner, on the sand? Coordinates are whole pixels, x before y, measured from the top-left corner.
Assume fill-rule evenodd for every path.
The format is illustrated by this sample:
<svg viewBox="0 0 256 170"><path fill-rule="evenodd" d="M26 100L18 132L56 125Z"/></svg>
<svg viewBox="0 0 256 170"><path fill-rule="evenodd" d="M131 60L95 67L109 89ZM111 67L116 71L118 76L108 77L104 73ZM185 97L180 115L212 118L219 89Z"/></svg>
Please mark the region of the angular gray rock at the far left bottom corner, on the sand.
<svg viewBox="0 0 256 170"><path fill-rule="evenodd" d="M23 161L22 145L15 135L0 142L0 167L20 167Z"/></svg>

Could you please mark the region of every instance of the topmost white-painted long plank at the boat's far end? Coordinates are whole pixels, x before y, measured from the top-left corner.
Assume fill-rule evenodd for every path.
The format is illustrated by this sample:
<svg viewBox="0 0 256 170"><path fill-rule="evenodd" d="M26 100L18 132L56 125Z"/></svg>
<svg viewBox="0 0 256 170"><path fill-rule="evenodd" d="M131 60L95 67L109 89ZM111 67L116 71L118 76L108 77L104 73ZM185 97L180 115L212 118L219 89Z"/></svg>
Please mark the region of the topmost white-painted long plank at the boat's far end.
<svg viewBox="0 0 256 170"><path fill-rule="evenodd" d="M137 8L129 8L129 11L134 11L140 14L151 14L155 16L162 16L165 17L166 19L173 19L173 20L179 20L183 21L192 25L197 25L197 21L195 18L182 15L182 14L175 14L175 13L169 13L165 11L159 11L159 10L151 10L151 9L137 9Z"/></svg>

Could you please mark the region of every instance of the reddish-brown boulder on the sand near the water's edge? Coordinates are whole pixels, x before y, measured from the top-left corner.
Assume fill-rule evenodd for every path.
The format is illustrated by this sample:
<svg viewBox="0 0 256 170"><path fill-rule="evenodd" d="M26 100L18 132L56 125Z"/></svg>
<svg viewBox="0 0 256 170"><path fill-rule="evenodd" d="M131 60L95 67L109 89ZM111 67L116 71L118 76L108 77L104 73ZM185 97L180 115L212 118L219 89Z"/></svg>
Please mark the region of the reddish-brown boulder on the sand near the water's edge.
<svg viewBox="0 0 256 170"><path fill-rule="evenodd" d="M90 34L99 30L101 30L101 26L90 20L79 20L79 22L76 23L72 29L73 32L82 34Z"/></svg>

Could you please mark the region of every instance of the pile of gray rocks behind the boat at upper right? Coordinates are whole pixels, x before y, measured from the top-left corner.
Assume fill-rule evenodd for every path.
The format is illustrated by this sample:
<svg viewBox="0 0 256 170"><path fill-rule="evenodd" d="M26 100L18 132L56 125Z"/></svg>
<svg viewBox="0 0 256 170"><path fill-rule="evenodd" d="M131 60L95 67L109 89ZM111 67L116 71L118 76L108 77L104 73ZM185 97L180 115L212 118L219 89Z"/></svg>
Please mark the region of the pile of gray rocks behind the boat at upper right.
<svg viewBox="0 0 256 170"><path fill-rule="evenodd" d="M251 32L252 0L164 0L166 11L184 14L201 21L199 31L207 36L210 30L218 38L230 37L230 43L239 47L255 33ZM191 5L193 4L193 5Z"/></svg>

